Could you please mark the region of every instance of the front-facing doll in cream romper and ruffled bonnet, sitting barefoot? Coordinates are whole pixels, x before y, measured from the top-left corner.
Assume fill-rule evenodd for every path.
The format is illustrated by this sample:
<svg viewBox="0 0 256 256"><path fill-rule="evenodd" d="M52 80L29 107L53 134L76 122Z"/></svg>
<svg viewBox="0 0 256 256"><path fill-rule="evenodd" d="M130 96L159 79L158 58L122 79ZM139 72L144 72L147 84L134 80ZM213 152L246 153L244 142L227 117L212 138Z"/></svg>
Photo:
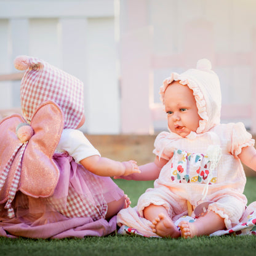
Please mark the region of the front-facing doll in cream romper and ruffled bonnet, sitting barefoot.
<svg viewBox="0 0 256 256"><path fill-rule="evenodd" d="M154 188L138 199L138 216L131 209L121 210L118 224L138 225L146 236L171 238L208 235L238 225L247 204L241 161L256 170L256 150L241 122L220 124L220 82L211 63L202 59L196 69L172 73L160 94L169 132L156 137L154 162L140 166L140 174L121 177L156 179ZM190 207L196 221L176 226Z"/></svg>

